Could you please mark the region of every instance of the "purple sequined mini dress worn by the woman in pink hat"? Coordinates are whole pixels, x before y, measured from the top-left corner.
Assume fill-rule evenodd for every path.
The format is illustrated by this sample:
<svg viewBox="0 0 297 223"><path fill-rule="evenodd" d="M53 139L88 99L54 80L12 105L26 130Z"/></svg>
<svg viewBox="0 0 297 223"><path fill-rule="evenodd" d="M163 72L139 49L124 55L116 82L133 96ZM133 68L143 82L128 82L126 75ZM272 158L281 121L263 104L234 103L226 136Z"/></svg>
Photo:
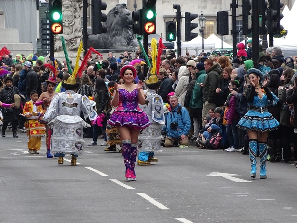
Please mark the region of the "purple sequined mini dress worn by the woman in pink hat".
<svg viewBox="0 0 297 223"><path fill-rule="evenodd" d="M147 114L138 106L137 89L127 91L119 89L119 105L108 120L110 125L145 129L151 125Z"/></svg>

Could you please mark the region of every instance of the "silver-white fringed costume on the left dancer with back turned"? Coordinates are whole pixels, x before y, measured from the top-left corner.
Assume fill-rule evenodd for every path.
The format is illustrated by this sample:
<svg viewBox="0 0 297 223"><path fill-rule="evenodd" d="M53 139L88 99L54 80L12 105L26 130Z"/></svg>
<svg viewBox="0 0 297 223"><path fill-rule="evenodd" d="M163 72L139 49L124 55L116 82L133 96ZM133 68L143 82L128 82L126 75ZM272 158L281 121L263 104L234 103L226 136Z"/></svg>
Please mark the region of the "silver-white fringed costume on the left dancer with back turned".
<svg viewBox="0 0 297 223"><path fill-rule="evenodd" d="M72 90L56 94L42 120L53 128L51 152L53 154L82 155L84 152L83 128L90 127L81 117L93 121L97 117L86 96Z"/></svg>

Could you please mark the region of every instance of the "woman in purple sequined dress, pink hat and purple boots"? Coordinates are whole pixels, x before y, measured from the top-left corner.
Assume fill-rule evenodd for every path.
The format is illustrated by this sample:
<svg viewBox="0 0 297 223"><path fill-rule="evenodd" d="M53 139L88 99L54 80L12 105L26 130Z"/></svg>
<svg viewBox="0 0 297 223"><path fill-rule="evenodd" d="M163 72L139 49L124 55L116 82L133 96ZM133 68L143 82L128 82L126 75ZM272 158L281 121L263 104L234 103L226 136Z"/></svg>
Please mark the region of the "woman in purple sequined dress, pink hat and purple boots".
<svg viewBox="0 0 297 223"><path fill-rule="evenodd" d="M112 99L112 105L117 106L116 110L110 116L108 123L116 126L121 139L124 163L126 167L126 180L136 180L135 162L137 155L137 141L139 131L151 125L148 116L142 111L138 103L145 103L143 92L143 82L134 84L133 80L137 77L134 66L125 65L120 71L124 84L114 85L115 94Z"/></svg>

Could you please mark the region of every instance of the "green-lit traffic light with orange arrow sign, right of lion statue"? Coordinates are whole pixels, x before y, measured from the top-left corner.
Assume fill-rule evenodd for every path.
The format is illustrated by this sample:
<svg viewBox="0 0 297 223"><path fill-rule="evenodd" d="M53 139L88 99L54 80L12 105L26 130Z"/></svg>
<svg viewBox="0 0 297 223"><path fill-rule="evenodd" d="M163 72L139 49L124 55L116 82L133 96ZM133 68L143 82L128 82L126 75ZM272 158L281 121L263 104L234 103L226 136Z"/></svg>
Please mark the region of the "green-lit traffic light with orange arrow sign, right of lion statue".
<svg viewBox="0 0 297 223"><path fill-rule="evenodd" d="M156 33L156 3L157 0L143 0L143 33L155 34Z"/></svg>

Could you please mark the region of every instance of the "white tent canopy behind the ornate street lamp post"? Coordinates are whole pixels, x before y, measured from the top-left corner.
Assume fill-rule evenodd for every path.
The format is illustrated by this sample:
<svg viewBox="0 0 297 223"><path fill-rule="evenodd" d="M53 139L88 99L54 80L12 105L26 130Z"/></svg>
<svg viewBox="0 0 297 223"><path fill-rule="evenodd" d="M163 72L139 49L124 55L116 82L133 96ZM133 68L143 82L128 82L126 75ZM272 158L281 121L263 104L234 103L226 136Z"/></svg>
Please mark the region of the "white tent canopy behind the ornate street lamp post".
<svg viewBox="0 0 297 223"><path fill-rule="evenodd" d="M215 50L215 43L206 43L204 39L204 51L211 52ZM187 48L187 49L186 49ZM199 52L202 52L202 37L195 37L191 41L182 43L182 55L186 54L186 50L190 53L190 55L198 55Z"/></svg>

